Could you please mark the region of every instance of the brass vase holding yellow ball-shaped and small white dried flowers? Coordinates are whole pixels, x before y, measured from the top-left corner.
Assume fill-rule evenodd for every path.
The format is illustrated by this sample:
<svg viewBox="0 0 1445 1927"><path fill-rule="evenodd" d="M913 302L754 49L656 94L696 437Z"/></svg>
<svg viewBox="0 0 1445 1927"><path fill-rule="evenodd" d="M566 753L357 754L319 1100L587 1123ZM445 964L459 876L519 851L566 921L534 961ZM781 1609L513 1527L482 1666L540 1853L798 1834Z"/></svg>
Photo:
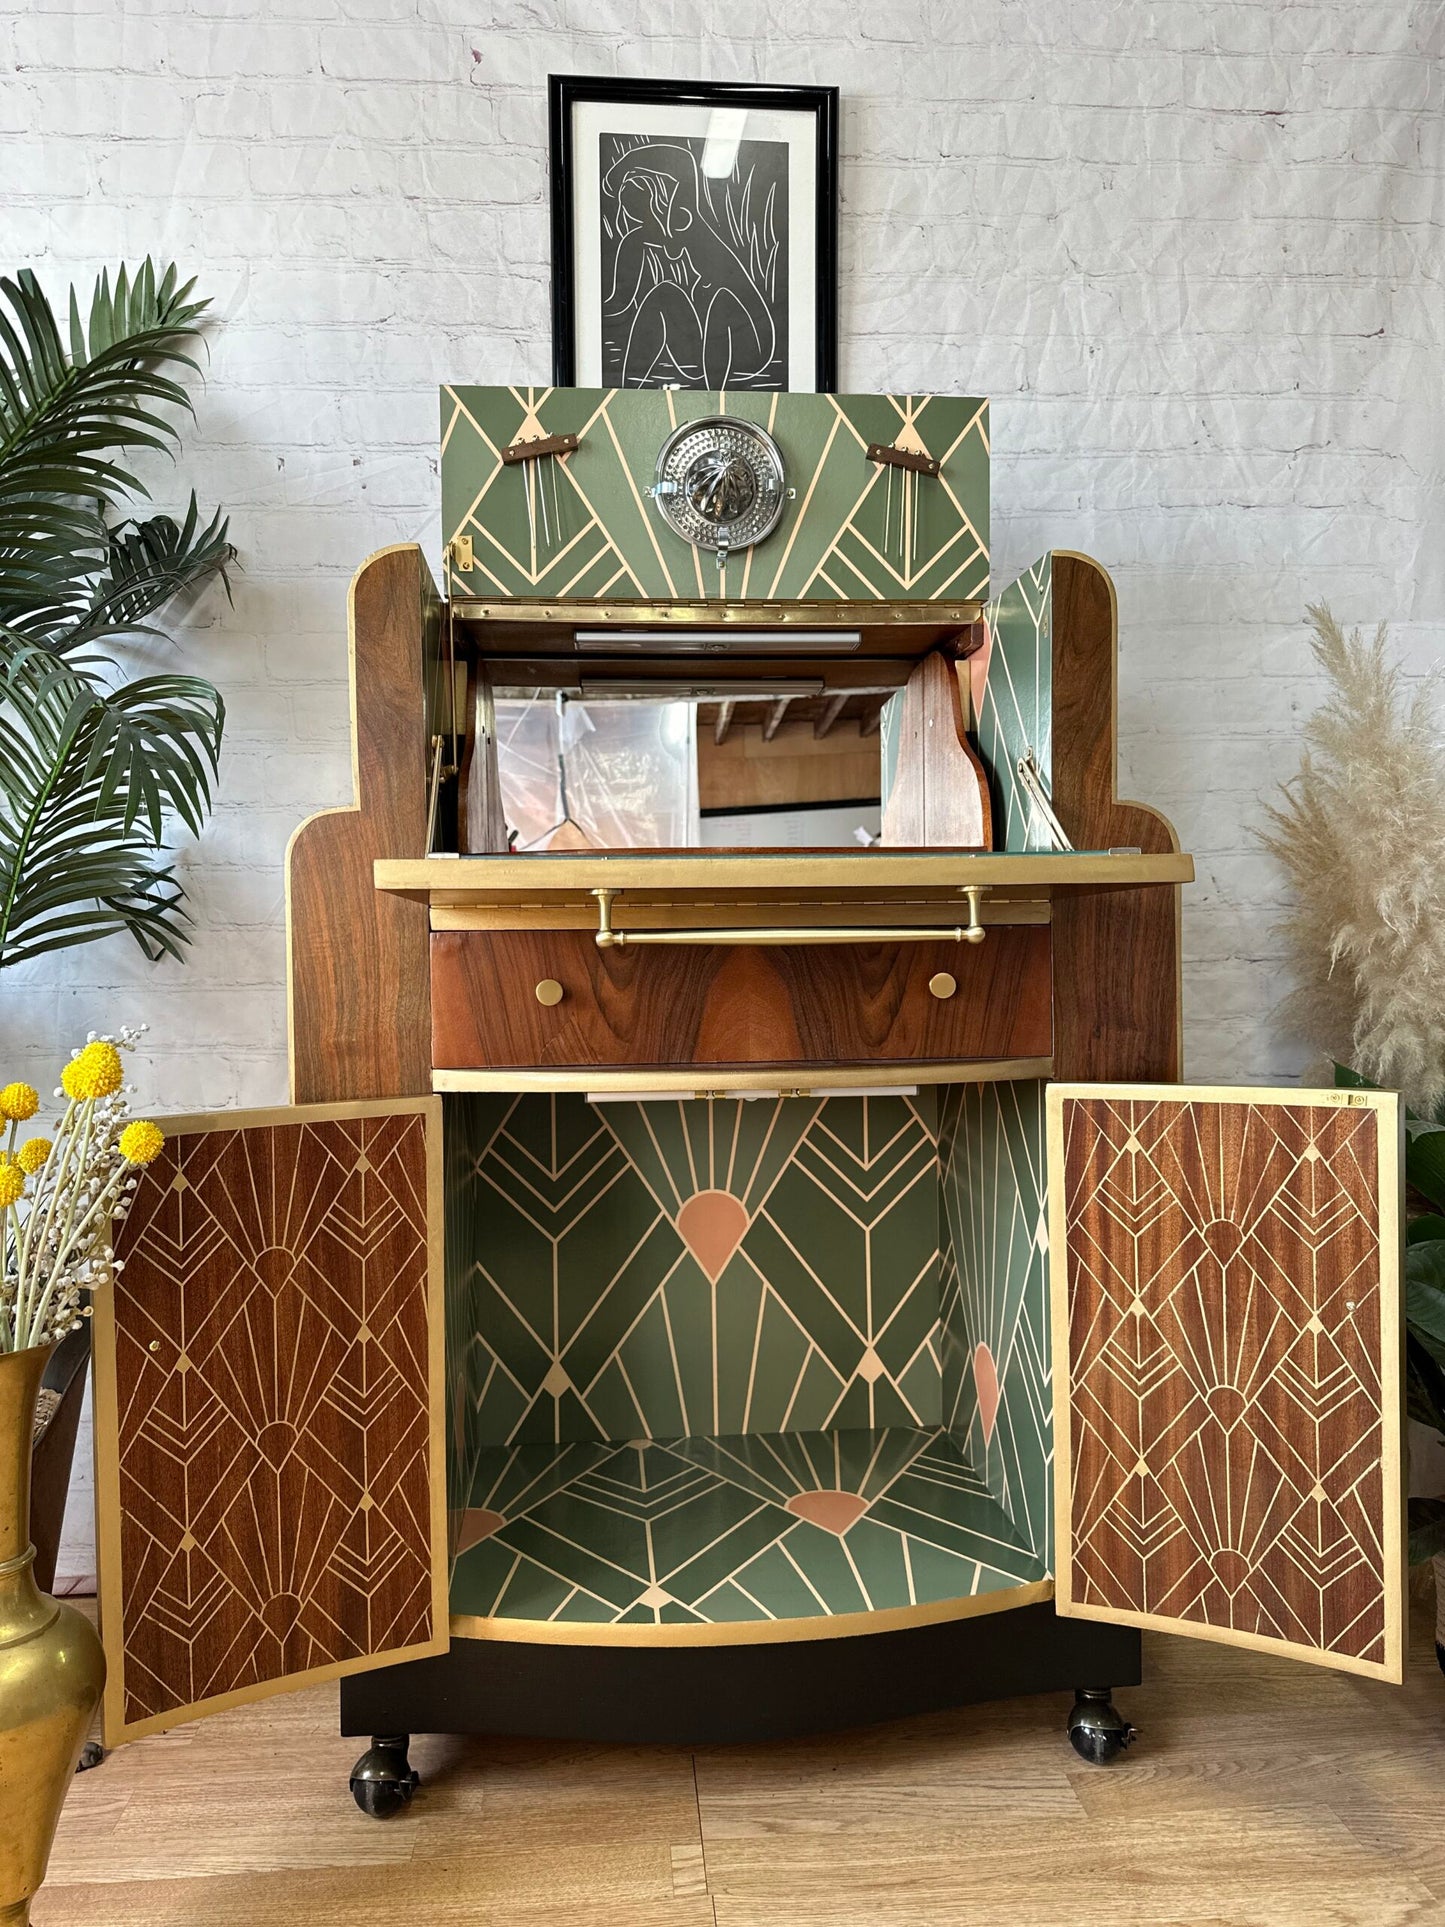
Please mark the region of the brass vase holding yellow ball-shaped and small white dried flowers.
<svg viewBox="0 0 1445 1927"><path fill-rule="evenodd" d="M54 1135L29 1135L33 1085L0 1087L0 1919L29 1919L106 1661L89 1619L31 1571L31 1432L56 1343L89 1316L119 1262L112 1226L162 1148L129 1116L121 1050L91 1037L60 1075Z"/></svg>

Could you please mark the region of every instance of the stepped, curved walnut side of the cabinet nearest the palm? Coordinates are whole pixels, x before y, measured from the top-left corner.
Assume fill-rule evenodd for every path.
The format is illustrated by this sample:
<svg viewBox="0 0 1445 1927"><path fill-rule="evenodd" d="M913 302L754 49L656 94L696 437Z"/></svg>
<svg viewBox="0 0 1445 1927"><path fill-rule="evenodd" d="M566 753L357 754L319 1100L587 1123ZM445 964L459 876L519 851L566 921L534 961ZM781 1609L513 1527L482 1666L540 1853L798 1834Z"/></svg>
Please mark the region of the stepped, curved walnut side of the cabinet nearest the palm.
<svg viewBox="0 0 1445 1927"><path fill-rule="evenodd" d="M378 549L349 597L353 802L285 856L291 1100L432 1089L428 910L376 890L376 858L426 854L426 674L441 603L414 543Z"/></svg>

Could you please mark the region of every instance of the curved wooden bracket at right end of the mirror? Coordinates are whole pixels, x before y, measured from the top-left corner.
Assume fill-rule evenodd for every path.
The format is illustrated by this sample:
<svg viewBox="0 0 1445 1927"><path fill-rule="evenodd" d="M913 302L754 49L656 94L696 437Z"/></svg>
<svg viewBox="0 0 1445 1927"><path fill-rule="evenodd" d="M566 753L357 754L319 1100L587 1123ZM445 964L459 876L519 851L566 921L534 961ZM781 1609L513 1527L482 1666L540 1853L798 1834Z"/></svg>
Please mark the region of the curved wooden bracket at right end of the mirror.
<svg viewBox="0 0 1445 1927"><path fill-rule="evenodd" d="M992 850L988 779L963 725L958 669L936 649L923 657L904 690L882 842Z"/></svg>

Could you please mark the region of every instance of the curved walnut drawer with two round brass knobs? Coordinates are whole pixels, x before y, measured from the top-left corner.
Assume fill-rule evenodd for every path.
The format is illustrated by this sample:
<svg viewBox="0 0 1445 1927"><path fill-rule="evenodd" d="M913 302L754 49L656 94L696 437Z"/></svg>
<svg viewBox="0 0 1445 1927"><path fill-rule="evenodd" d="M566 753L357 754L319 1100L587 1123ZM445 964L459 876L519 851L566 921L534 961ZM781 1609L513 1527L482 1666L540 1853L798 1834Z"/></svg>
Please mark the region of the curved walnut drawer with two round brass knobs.
<svg viewBox="0 0 1445 1927"><path fill-rule="evenodd" d="M958 989L934 996L948 973ZM561 1000L538 1000L538 985ZM590 931L435 931L435 1069L848 1066L1046 1058L1050 933L985 942L678 944L599 950Z"/></svg>

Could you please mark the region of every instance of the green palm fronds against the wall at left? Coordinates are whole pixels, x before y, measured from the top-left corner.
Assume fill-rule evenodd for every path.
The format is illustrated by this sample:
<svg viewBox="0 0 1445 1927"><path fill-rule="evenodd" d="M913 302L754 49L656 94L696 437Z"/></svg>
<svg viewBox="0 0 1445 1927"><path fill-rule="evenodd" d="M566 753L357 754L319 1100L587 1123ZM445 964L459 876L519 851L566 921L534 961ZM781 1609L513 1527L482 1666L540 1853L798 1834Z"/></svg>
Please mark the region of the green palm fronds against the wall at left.
<svg viewBox="0 0 1445 1927"><path fill-rule="evenodd" d="M146 495L125 462L179 443L193 287L150 260L102 274L62 333L33 274L0 277L0 967L121 929L150 958L187 942L166 838L204 823L225 705L102 651L214 574L229 594L227 522L195 493L179 522L123 515Z"/></svg>

